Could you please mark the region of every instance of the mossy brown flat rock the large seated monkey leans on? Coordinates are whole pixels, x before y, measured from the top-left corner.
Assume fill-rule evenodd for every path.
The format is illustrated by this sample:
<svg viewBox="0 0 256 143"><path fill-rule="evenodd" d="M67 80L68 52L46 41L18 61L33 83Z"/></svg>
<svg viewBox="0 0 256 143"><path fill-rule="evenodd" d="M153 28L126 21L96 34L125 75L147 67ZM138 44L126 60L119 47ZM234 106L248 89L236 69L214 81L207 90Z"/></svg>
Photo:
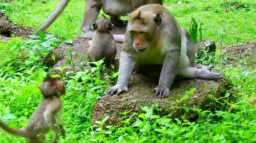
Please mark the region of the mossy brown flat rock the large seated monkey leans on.
<svg viewBox="0 0 256 143"><path fill-rule="evenodd" d="M159 77L159 76L158 76ZM131 111L140 113L141 106L152 106L158 103L162 109L158 111L161 116L171 115L172 118L179 118L184 115L183 109L177 108L176 104L172 104L184 96L185 91L196 88L196 91L189 96L188 99L179 103L179 106L187 106L189 108L214 109L215 104L209 105L213 97L221 97L227 89L226 80L202 80L202 79L177 79L170 89L168 98L156 97L152 90L157 86L158 79L148 77L144 74L134 73L129 93L119 96L104 95L95 105L93 110L93 122L102 120L106 116L110 116L108 122L116 125L122 121L123 115L120 112ZM175 108L173 108L176 106ZM197 114L188 112L185 116L186 120L194 120Z"/></svg>

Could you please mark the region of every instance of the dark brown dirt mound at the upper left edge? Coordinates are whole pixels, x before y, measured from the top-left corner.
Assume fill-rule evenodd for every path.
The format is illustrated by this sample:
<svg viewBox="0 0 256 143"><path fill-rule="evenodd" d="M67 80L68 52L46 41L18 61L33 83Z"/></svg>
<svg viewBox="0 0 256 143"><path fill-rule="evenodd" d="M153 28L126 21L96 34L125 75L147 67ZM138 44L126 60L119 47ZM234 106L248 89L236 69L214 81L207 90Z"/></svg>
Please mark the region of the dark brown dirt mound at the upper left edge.
<svg viewBox="0 0 256 143"><path fill-rule="evenodd" d="M12 35L28 37L33 31L33 28L13 24L8 16L0 11L0 39L8 40Z"/></svg>

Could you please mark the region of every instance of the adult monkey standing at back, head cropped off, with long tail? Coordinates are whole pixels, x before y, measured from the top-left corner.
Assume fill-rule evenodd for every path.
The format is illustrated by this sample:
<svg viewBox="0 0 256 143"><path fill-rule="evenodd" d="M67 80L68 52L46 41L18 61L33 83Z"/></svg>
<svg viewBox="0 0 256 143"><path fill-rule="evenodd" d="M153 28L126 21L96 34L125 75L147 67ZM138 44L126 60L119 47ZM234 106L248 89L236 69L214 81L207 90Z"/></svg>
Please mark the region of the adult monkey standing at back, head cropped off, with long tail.
<svg viewBox="0 0 256 143"><path fill-rule="evenodd" d="M34 32L37 34L38 31L46 31L46 29L57 19L60 13L66 8L70 0L62 0L58 7L53 11L53 13L47 18L47 20ZM105 14L111 16L111 21L115 26L126 25L126 21L119 20L120 16L126 15L134 11L136 8L157 3L162 5L162 0L87 0L86 9L84 10L81 30L83 32L88 32L91 25L97 19L99 12L102 8Z"/></svg>

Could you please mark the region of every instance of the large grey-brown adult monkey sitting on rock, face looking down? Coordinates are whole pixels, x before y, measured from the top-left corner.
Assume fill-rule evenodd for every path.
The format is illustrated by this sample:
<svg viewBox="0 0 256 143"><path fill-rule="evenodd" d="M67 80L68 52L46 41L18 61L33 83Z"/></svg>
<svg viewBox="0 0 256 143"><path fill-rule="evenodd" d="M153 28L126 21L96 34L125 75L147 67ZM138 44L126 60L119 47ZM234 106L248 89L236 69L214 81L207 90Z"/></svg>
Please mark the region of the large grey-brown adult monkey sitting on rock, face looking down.
<svg viewBox="0 0 256 143"><path fill-rule="evenodd" d="M195 46L188 32L179 26L172 14L161 5L148 4L131 13L124 51L120 55L117 84L108 94L127 92L134 68L140 65L161 64L156 96L167 97L176 75L189 78L220 79L213 67L195 63Z"/></svg>

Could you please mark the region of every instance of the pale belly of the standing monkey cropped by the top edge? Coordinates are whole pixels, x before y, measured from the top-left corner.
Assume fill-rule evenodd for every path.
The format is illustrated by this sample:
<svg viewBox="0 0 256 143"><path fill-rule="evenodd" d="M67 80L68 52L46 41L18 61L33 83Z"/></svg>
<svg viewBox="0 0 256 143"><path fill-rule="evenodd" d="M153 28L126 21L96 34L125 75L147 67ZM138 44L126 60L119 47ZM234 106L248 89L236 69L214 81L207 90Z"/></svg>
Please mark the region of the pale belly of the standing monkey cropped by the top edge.
<svg viewBox="0 0 256 143"><path fill-rule="evenodd" d="M132 3L129 0L106 0L102 9L108 15L126 15L133 11Z"/></svg>

